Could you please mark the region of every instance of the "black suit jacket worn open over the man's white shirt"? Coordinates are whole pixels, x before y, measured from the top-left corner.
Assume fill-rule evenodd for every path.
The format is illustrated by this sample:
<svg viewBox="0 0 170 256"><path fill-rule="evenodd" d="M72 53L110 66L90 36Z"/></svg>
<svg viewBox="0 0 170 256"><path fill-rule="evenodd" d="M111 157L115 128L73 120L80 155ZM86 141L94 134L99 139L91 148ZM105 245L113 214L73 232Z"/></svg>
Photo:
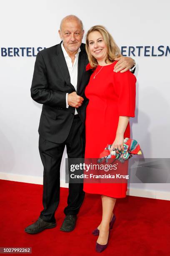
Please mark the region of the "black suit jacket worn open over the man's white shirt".
<svg viewBox="0 0 170 256"><path fill-rule="evenodd" d="M75 92L75 87L70 83L70 74L61 44L62 41L37 54L31 86L32 99L43 104L38 132L47 141L55 143L65 141L75 114L75 108L66 108L66 93ZM88 64L85 44L81 44L80 49L77 95L82 96L84 101L81 107L77 108L77 112L84 123L88 104L84 92L92 71L85 71Z"/></svg>

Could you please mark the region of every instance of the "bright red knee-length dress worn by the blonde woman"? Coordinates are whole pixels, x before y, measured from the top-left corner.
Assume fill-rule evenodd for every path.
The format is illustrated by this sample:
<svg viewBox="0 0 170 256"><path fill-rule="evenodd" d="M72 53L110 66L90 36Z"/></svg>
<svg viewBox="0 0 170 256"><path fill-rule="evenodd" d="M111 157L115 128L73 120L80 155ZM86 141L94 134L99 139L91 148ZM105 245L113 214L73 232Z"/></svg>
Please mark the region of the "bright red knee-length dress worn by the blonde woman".
<svg viewBox="0 0 170 256"><path fill-rule="evenodd" d="M130 72L115 73L117 61L97 66L85 89L89 99L85 120L85 158L99 158L107 144L115 140L119 116L135 117L136 77ZM124 138L130 138L128 123ZM83 190L92 194L120 198L126 196L127 183L84 183Z"/></svg>

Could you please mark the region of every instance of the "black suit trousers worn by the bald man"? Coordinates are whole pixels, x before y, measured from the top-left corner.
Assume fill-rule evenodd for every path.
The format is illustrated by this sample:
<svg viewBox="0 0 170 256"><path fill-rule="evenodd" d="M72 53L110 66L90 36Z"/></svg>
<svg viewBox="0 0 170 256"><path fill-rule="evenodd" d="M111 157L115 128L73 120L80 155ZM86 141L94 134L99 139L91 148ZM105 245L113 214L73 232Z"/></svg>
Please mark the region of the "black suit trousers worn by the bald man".
<svg viewBox="0 0 170 256"><path fill-rule="evenodd" d="M62 154L67 147L69 158L84 158L85 154L85 128L78 115L75 115L70 133L63 143L53 143L39 137L39 151L43 172L43 196L42 204L44 209L40 218L47 222L55 222L55 211L60 201L60 164ZM69 184L69 195L65 215L76 215L84 200L85 192L83 184Z"/></svg>

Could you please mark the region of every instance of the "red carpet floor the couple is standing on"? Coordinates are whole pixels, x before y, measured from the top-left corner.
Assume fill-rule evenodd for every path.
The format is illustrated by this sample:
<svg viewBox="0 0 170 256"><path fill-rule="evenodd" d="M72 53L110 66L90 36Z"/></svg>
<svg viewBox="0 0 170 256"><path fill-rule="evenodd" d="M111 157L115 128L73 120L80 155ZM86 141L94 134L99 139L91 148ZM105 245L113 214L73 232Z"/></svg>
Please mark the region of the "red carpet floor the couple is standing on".
<svg viewBox="0 0 170 256"><path fill-rule="evenodd" d="M37 220L42 210L42 186L0 180L0 247L32 247L32 255L98 255L97 237L91 232L100 223L100 196L87 194L75 230L60 231L68 189L61 188L56 212L57 227L30 235L24 228ZM117 200L117 220L110 243L102 255L170 255L170 202L127 196Z"/></svg>

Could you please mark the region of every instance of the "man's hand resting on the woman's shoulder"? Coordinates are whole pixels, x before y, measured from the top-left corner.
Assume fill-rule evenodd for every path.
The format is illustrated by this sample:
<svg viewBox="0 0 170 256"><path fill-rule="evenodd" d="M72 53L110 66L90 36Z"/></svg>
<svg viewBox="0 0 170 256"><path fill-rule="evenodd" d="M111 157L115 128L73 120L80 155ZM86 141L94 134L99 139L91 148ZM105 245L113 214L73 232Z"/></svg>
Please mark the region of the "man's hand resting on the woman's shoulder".
<svg viewBox="0 0 170 256"><path fill-rule="evenodd" d="M120 71L120 73L124 73L125 71L131 69L134 66L134 61L130 57L121 56L115 60L118 61L115 64L115 68L113 70L116 73L119 71Z"/></svg>

